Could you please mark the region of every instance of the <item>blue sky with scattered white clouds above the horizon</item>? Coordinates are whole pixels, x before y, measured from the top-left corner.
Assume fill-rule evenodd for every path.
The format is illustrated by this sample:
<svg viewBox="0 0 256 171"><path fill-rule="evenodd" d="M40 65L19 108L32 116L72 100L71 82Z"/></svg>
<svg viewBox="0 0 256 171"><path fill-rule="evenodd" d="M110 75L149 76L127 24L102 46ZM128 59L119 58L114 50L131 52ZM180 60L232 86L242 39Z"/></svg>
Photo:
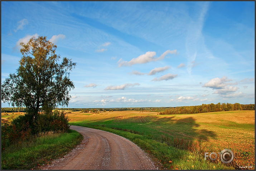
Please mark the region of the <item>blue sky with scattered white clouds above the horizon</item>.
<svg viewBox="0 0 256 171"><path fill-rule="evenodd" d="M255 103L254 1L1 1L2 83L39 35L77 63L69 108Z"/></svg>

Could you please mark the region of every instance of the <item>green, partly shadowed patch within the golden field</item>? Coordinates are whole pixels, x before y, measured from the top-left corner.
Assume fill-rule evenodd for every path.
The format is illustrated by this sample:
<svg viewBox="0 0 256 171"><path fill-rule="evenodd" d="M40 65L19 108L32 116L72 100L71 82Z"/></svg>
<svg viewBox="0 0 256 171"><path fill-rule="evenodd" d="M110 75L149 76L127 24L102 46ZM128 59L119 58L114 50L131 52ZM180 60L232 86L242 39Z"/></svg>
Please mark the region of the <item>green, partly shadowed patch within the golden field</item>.
<svg viewBox="0 0 256 171"><path fill-rule="evenodd" d="M88 124L106 126L135 134L150 135L153 139L165 141L167 144L175 141L208 141L216 139L216 133L199 128L193 116L113 116L111 114L90 121ZM182 142L176 142L182 143Z"/></svg>

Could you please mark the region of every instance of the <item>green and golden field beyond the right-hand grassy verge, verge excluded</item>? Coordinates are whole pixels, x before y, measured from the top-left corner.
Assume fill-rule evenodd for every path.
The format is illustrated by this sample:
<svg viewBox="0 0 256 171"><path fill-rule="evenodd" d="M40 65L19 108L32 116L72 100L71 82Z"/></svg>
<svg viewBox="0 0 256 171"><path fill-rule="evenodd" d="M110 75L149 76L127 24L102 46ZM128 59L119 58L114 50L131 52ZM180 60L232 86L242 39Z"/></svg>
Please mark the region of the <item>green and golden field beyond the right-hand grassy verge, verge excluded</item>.
<svg viewBox="0 0 256 171"><path fill-rule="evenodd" d="M68 116L71 124L125 130L177 147L183 141L199 142L202 157L203 152L230 149L238 153L230 169L239 166L255 168L255 111L252 110L180 115L139 111L72 112Z"/></svg>

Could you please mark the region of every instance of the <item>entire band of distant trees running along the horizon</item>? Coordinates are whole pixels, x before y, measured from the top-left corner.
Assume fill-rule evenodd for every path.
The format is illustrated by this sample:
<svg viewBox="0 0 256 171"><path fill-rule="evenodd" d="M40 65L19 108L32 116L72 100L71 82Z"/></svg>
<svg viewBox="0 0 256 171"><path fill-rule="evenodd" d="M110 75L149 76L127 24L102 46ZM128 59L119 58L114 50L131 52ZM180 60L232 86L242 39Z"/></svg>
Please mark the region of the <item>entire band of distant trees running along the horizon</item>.
<svg viewBox="0 0 256 171"><path fill-rule="evenodd" d="M206 112L221 112L230 110L255 110L255 104L230 104L230 103L217 103L217 104L202 104L199 106L182 106L182 107L144 107L144 108L55 108L57 110L71 110L74 111L148 111L160 112L160 115L171 114L193 114L193 113L206 113ZM1 108L1 112L26 112L26 108Z"/></svg>

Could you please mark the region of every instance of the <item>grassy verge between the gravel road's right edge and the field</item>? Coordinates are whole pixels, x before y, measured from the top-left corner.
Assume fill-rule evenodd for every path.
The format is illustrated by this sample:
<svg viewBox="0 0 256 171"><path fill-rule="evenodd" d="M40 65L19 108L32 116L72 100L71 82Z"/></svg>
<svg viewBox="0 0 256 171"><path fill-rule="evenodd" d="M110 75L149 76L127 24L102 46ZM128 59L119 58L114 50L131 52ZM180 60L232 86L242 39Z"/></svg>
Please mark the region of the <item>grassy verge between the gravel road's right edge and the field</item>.
<svg viewBox="0 0 256 171"><path fill-rule="evenodd" d="M205 161L199 154L190 152L188 150L178 149L167 145L165 142L159 142L152 139L149 135L134 134L127 131L107 128L105 126L91 125L86 123L70 123L71 125L85 126L88 128L95 128L105 130L120 136L123 136L146 152L156 157L166 169L179 170L223 170L235 169L232 166L224 165L220 162L213 163ZM171 161L171 162L169 162Z"/></svg>

